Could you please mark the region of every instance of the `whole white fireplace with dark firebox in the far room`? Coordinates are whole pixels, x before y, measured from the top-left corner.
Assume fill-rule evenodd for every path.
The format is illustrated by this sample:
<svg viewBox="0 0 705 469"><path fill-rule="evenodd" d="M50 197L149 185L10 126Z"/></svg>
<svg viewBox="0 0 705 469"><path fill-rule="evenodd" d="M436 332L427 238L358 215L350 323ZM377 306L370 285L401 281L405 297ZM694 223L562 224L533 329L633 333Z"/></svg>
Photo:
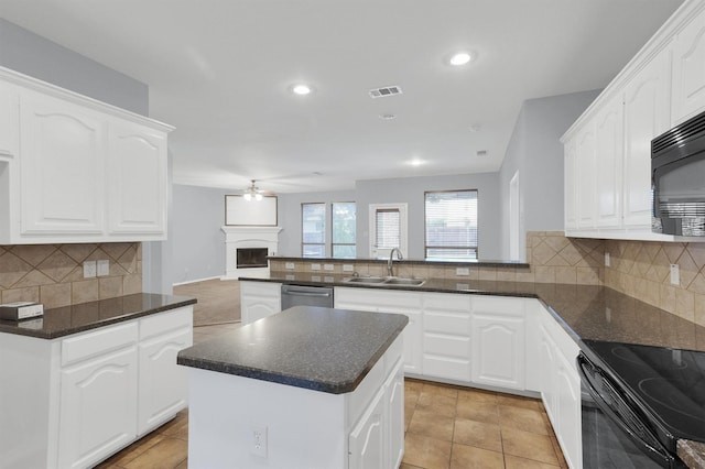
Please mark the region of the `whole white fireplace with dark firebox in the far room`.
<svg viewBox="0 0 705 469"><path fill-rule="evenodd" d="M269 276L269 255L279 251L279 227L230 227L221 228L225 233L225 276Z"/></svg>

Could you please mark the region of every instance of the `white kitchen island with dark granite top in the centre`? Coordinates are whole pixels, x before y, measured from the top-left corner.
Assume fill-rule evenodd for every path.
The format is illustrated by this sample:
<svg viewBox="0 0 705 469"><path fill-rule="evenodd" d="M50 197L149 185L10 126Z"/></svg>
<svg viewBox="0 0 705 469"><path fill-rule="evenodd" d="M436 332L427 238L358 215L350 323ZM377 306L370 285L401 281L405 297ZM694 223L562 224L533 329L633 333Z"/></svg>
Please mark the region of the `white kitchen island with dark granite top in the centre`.
<svg viewBox="0 0 705 469"><path fill-rule="evenodd" d="M182 350L188 465L399 467L406 323L300 306Z"/></svg>

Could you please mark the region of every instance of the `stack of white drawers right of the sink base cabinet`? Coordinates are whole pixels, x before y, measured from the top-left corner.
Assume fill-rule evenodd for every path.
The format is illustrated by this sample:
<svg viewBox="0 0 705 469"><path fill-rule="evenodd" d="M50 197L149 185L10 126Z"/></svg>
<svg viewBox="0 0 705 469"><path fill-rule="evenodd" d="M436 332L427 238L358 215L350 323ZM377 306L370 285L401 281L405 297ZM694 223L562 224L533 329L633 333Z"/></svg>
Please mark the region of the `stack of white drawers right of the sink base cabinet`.
<svg viewBox="0 0 705 469"><path fill-rule="evenodd" d="M470 296L423 296L423 373L470 381Z"/></svg>

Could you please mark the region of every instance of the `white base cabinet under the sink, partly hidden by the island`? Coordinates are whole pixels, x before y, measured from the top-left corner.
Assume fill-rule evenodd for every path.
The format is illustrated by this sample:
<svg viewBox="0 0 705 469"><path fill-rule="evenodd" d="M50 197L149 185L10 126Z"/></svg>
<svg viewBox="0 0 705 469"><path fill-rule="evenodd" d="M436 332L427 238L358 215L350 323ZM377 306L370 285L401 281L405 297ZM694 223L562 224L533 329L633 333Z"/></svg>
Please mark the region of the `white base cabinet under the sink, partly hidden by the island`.
<svg viewBox="0 0 705 469"><path fill-rule="evenodd" d="M404 328L404 371L422 374L421 292L335 287L336 308L372 313L397 313L409 317Z"/></svg>

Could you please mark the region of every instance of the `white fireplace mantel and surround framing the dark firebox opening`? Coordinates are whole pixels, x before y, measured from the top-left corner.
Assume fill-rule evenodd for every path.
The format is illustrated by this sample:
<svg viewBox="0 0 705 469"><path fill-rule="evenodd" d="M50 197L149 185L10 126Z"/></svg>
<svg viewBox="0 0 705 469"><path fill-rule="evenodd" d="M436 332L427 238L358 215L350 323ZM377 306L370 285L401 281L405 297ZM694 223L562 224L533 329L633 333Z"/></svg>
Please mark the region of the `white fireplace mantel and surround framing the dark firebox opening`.
<svg viewBox="0 0 705 469"><path fill-rule="evenodd" d="M238 279L240 275L267 276L269 268L237 268L237 249L267 248L268 255L276 255L280 227L232 227L220 228L225 233L225 276Z"/></svg>

